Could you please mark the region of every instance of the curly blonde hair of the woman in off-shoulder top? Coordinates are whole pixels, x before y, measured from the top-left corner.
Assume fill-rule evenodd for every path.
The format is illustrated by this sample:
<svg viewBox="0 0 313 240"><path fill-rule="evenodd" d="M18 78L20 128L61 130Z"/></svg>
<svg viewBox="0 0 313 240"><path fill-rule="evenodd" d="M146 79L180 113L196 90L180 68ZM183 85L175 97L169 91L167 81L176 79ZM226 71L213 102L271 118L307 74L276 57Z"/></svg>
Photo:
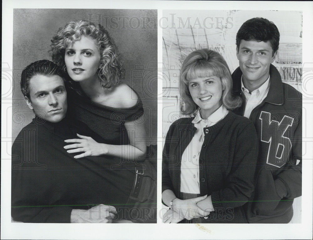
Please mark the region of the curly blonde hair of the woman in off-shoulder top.
<svg viewBox="0 0 313 240"><path fill-rule="evenodd" d="M100 66L102 67L97 72L102 87L110 88L118 84L121 79L124 79L125 70L115 43L108 31L102 25L91 21L71 21L64 28L59 28L51 39L50 45L52 60L64 70L69 79L70 87L78 90L77 86L79 84L71 80L68 76L64 61L65 49L75 41L80 40L82 36L94 39L96 45L99 47L101 56Z"/></svg>

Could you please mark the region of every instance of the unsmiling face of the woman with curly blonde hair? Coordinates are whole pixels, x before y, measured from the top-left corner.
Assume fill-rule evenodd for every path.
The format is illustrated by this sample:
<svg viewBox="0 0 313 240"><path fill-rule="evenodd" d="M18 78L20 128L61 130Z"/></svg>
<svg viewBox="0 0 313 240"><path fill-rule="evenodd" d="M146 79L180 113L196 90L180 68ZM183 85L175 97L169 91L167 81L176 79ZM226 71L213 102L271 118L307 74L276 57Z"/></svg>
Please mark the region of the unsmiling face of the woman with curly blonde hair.
<svg viewBox="0 0 313 240"><path fill-rule="evenodd" d="M95 41L82 36L65 49L65 65L71 79L75 82L94 80L100 68L100 51Z"/></svg>

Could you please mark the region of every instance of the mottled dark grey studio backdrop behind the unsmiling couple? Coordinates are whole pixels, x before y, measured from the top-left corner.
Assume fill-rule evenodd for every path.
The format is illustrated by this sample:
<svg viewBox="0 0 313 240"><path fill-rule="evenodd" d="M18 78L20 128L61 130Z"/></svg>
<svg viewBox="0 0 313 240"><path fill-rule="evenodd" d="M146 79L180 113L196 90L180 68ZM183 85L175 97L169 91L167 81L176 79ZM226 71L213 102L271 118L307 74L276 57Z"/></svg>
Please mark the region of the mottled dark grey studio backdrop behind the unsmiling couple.
<svg viewBox="0 0 313 240"><path fill-rule="evenodd" d="M147 144L156 144L157 132L157 10L121 9L14 9L12 138L33 119L20 90L23 68L51 60L51 38L71 20L87 19L103 25L121 54L124 83L143 102Z"/></svg>

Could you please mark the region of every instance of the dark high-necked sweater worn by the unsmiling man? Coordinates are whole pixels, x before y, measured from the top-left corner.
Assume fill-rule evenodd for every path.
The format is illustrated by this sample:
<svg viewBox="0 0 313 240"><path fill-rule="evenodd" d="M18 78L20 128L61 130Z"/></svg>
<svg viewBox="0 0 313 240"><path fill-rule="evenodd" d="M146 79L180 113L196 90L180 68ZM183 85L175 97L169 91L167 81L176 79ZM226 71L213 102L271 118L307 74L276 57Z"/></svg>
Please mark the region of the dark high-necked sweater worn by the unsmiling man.
<svg viewBox="0 0 313 240"><path fill-rule="evenodd" d="M72 209L105 204L124 207L131 193L134 169L121 159L101 156L75 159L63 148L76 133L103 139L79 122L59 123L37 117L18 134L12 146L12 210L15 221L70 222ZM112 169L112 166L119 166ZM121 216L120 216L121 217Z"/></svg>

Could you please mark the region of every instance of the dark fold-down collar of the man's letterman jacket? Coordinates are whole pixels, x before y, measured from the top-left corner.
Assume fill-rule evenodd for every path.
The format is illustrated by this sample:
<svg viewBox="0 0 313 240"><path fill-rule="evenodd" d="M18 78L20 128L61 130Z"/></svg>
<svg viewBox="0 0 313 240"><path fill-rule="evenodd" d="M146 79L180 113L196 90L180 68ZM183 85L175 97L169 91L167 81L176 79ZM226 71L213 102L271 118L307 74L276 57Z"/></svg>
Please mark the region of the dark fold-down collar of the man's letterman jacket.
<svg viewBox="0 0 313 240"><path fill-rule="evenodd" d="M239 67L232 74L233 93L239 93L241 91L241 75L242 71ZM272 64L269 67L269 75L269 93L264 101L275 105L282 105L284 104L283 83L281 81L280 73Z"/></svg>

